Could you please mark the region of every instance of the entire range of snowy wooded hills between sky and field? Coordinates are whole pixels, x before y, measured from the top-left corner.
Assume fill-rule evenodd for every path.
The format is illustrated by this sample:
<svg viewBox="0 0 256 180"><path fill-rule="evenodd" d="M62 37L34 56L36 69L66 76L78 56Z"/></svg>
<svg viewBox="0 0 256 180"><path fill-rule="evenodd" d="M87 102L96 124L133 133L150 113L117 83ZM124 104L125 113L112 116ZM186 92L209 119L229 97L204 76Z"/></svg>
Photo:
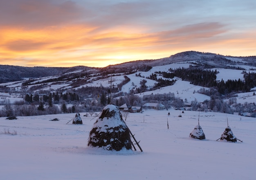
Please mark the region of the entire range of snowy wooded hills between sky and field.
<svg viewBox="0 0 256 180"><path fill-rule="evenodd" d="M167 108L177 109L184 102L193 105L193 110L229 113L256 109L255 103L252 104L255 99L252 91L256 91L255 56L231 57L186 51L167 58L137 60L103 68L2 65L0 74L2 105L7 99L16 104L25 100L37 105L40 100L45 106L65 102L83 104L69 107L69 112L89 112L98 111L106 101L113 100L112 103L118 106L161 102ZM247 102L251 107L241 109L236 100ZM235 105L227 106L231 104ZM49 108L48 113L53 110ZM256 113L253 116L256 117Z"/></svg>

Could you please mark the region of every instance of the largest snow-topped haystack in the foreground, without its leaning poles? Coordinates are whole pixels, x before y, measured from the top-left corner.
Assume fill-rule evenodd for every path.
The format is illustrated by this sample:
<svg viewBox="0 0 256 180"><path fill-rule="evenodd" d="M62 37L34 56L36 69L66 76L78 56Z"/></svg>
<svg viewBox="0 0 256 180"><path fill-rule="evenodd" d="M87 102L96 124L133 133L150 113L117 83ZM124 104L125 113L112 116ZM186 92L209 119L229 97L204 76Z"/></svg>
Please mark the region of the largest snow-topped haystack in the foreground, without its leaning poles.
<svg viewBox="0 0 256 180"><path fill-rule="evenodd" d="M107 105L99 114L90 131L88 146L115 151L132 149L130 130L115 105Z"/></svg>

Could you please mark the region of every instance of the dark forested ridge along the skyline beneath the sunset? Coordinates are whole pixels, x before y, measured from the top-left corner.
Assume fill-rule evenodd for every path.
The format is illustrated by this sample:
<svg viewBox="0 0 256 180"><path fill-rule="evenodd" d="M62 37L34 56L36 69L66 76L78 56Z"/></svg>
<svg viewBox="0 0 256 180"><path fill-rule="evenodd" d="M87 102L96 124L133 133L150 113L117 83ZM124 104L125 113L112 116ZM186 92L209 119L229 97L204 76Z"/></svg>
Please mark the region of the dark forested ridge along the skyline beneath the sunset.
<svg viewBox="0 0 256 180"><path fill-rule="evenodd" d="M234 69L238 66L256 67L256 56L231 57L214 53L203 53L197 51L185 51L167 58L156 60L136 60L121 64L109 65L103 68L76 66L76 67L21 67L11 65L0 65L0 83L14 82L29 78L42 78L48 76L62 76L65 73L72 73L73 78L88 76L90 73L99 72L101 76L112 73L134 73L135 71L148 71L155 66L163 66L178 62L201 63L208 68ZM77 73L77 76L75 75ZM71 78L72 78L71 77ZM71 79L69 78L69 79Z"/></svg>

